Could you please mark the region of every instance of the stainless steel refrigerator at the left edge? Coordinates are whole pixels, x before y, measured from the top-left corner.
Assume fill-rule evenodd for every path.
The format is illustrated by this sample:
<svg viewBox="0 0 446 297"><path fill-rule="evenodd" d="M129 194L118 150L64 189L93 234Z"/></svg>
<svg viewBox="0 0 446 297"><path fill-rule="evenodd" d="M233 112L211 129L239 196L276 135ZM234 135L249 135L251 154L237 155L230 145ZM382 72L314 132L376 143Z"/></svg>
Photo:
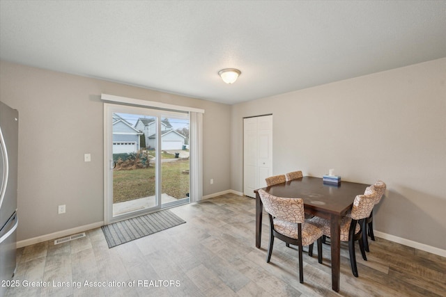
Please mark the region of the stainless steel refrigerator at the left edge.
<svg viewBox="0 0 446 297"><path fill-rule="evenodd" d="M8 284L16 268L17 147L19 113L0 102L0 281ZM7 287L0 284L0 296Z"/></svg>

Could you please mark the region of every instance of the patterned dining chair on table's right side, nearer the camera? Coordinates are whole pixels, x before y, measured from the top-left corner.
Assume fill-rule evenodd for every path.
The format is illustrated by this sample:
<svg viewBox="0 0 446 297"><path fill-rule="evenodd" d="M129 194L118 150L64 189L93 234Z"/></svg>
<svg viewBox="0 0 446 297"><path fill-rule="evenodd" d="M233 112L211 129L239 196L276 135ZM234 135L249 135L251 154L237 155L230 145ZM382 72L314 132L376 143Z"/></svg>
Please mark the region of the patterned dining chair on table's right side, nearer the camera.
<svg viewBox="0 0 446 297"><path fill-rule="evenodd" d="M367 193L367 194L366 194ZM372 186L367 187L363 195L357 195L353 201L350 216L341 218L341 241L348 241L348 251L350 253L351 271L357 277L357 265L355 256L355 241L360 245L362 259L367 261L365 255L364 242L362 241L363 220L368 218L371 210L374 208L377 197L376 191ZM323 237L330 236L330 220L315 216L309 219L310 223L323 228ZM364 230L364 232L366 232ZM325 241L325 238L323 239Z"/></svg>

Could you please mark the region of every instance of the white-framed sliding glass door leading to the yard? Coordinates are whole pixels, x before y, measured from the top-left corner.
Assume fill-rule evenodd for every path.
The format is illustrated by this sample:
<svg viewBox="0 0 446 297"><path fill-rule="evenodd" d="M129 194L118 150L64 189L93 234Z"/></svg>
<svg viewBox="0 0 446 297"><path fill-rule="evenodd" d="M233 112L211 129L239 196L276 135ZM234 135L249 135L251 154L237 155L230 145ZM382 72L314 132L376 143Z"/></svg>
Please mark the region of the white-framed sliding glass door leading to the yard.
<svg viewBox="0 0 446 297"><path fill-rule="evenodd" d="M105 220L188 203L189 113L105 106Z"/></svg>

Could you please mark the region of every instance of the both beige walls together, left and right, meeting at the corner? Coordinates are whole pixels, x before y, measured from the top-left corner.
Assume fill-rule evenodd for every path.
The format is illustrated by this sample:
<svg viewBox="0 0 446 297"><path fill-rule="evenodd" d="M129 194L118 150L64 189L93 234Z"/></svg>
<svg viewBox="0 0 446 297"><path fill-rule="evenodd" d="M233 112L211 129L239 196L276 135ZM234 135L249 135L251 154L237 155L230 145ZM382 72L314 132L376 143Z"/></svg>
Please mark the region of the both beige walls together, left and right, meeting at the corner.
<svg viewBox="0 0 446 297"><path fill-rule="evenodd" d="M229 106L1 61L0 99L20 112L18 240L103 220L107 93L205 109L203 195L243 192L243 117L273 113L275 174L383 179L376 230L445 250L445 79L443 58Z"/></svg>

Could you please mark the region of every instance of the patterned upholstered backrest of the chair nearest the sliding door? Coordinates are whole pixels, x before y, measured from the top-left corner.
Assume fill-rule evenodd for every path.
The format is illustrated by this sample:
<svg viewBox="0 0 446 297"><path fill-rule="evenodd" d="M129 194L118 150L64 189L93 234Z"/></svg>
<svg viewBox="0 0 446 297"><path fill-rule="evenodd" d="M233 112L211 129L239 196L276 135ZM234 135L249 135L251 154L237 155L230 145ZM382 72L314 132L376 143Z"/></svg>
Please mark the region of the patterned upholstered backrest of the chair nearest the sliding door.
<svg viewBox="0 0 446 297"><path fill-rule="evenodd" d="M301 198L276 197L262 189L259 190L259 196L271 216L291 223L305 222L304 200Z"/></svg>

